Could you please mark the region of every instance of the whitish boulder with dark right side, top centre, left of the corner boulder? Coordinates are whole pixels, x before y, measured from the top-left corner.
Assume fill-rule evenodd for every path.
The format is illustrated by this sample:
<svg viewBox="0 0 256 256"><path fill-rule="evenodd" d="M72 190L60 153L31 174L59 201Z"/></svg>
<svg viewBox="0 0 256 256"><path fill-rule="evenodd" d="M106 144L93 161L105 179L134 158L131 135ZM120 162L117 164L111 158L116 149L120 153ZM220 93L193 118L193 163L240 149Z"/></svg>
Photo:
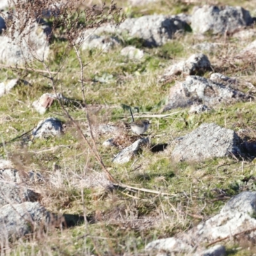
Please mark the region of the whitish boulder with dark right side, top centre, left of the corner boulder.
<svg viewBox="0 0 256 256"><path fill-rule="evenodd" d="M126 19L118 31L128 33L133 38L141 38L147 47L160 46L173 38L177 31L184 31L184 22L164 15L145 15Z"/></svg>

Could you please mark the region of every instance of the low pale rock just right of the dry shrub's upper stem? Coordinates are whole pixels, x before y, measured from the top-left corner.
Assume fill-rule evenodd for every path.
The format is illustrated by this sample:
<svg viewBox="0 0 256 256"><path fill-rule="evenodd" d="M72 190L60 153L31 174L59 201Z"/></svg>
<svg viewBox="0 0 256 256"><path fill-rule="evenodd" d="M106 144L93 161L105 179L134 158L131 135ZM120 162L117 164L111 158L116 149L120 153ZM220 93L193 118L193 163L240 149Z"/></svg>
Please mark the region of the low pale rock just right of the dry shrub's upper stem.
<svg viewBox="0 0 256 256"><path fill-rule="evenodd" d="M108 52L117 45L120 45L116 37L107 35L90 35L88 37L81 37L78 40L83 40L83 44L81 45L82 50L97 48L103 52Z"/></svg>

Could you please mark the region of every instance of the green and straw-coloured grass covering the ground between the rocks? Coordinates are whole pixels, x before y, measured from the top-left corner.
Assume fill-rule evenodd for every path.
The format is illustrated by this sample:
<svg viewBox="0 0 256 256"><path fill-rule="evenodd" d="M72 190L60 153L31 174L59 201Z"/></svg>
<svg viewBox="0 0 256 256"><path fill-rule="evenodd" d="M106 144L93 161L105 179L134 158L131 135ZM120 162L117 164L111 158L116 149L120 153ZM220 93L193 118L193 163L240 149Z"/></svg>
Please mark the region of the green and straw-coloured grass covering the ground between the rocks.
<svg viewBox="0 0 256 256"><path fill-rule="evenodd" d="M126 6L126 12L131 17L139 17L152 13L189 13L193 8L191 4L175 1L170 10L170 3L173 1L152 3L146 9L145 6ZM243 1L239 4L246 7L249 3ZM222 44L224 38L212 39L209 35L205 36L205 40L217 40ZM238 51L236 40L226 40L227 44L223 44L220 51L209 56L214 68L225 75L243 76L244 80L255 83L253 65L244 68L243 63L235 67L218 62L228 51L231 52L228 54L234 55ZM176 77L172 83L164 84L159 82L159 76L163 74L164 68L195 53L190 46L199 42L196 36L186 32L161 47L147 49L141 40L124 37L122 47L134 45L143 49L145 57L140 61L120 56L122 47L101 54L95 50L81 52L83 63L90 63L84 68L84 92L93 126L130 122L131 116L124 105L138 107L138 115L161 114L170 87L184 81L184 77ZM52 71L58 70L63 63L66 51L67 42L64 40L55 39L52 42L48 62ZM41 63L35 63L35 67L44 68ZM210 75L207 73L204 76ZM1 97L1 141L20 136L49 116L60 118L67 125L60 138L39 140L28 136L26 140L6 143L0 147L0 156L11 159L17 169L42 173L47 182L36 184L35 189L39 189L42 194L42 204L48 211L85 214L95 219L93 223L83 223L64 230L55 228L44 236L26 237L12 244L12 255L147 255L143 248L150 241L175 236L218 213L226 202L217 200L220 191L230 197L246 189L255 190L253 180L244 181L250 175L256 175L255 161L244 161L242 166L242 162L231 157L207 159L200 163L173 163L171 158L173 140L188 134L204 122L214 122L234 131L250 128L249 137L255 140L256 108L253 101L220 104L200 115L191 115L188 113L189 108L185 108L164 113L173 113L170 116L149 118L152 123L150 142L168 143L168 147L157 153L143 147L141 154L127 164L113 164L112 159L120 149L102 146L111 135L95 136L100 156L116 180L129 186L169 194L156 195L145 191L91 188L87 184L82 186L84 179L102 172L92 151L57 103L51 106L51 112L44 115L36 113L31 106L43 93L53 92L51 81L40 72L9 68L1 68L0 76L3 81L20 77L31 84L20 84L11 93ZM81 102L83 95L79 80L79 61L74 50L70 49L66 65L55 77L56 88L66 97ZM241 90L247 92L248 88L244 86ZM72 104L67 109L90 140L84 109ZM54 169L54 164L58 164L60 170ZM228 245L227 254L252 255L252 251L247 250L248 246L239 250L237 247Z"/></svg>

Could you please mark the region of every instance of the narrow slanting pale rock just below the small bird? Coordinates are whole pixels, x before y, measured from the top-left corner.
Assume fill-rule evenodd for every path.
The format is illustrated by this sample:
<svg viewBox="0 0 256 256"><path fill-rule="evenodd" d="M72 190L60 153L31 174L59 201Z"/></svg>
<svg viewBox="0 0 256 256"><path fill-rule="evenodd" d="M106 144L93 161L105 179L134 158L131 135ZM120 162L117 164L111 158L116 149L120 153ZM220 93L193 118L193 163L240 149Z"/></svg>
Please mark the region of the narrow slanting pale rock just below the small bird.
<svg viewBox="0 0 256 256"><path fill-rule="evenodd" d="M124 148L119 152L113 159L113 163L124 164L129 162L132 157L138 154L140 148L148 143L148 138L141 138L140 140L135 141L131 146Z"/></svg>

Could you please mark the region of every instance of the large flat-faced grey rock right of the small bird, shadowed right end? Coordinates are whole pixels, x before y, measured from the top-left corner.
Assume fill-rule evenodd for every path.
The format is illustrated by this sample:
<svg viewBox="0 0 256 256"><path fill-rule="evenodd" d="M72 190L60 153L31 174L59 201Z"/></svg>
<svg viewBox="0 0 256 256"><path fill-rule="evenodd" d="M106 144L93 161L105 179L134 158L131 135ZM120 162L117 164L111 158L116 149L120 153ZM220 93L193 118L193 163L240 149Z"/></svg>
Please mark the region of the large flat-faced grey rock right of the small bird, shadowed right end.
<svg viewBox="0 0 256 256"><path fill-rule="evenodd" d="M236 132L216 124L202 124L182 138L172 152L173 161L202 161L240 154Z"/></svg>

